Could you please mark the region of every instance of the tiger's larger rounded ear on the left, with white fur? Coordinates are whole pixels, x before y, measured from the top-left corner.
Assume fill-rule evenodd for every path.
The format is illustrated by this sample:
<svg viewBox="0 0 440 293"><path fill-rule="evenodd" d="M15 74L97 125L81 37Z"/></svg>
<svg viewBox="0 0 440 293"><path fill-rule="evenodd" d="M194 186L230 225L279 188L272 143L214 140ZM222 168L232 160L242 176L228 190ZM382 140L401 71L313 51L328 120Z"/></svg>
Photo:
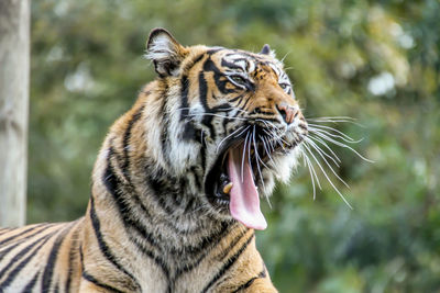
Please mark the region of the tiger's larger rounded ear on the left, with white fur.
<svg viewBox="0 0 440 293"><path fill-rule="evenodd" d="M154 29L150 33L145 57L153 61L161 77L177 76L180 63L187 54L188 50L165 29Z"/></svg>

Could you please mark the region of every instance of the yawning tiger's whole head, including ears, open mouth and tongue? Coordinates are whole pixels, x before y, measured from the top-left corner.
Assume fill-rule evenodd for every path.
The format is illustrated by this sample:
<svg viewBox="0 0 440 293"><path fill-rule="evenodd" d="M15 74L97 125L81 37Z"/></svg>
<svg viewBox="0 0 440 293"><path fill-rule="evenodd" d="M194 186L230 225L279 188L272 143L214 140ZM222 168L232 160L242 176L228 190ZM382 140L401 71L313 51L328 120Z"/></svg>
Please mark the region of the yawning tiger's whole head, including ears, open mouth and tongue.
<svg viewBox="0 0 440 293"><path fill-rule="evenodd" d="M174 174L194 177L190 193L213 214L264 229L260 196L289 179L308 133L282 61L268 45L184 47L163 29L151 32L146 57L168 91L157 154Z"/></svg>

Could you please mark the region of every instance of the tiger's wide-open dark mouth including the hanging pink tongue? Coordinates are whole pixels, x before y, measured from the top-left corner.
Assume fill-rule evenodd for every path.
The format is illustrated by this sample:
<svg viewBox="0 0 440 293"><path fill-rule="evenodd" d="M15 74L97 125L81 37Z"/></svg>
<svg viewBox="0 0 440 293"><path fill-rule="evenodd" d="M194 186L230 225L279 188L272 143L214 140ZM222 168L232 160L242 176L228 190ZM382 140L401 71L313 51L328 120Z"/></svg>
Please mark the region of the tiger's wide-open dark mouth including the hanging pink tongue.
<svg viewBox="0 0 440 293"><path fill-rule="evenodd" d="M252 140L248 136L227 142L205 183L210 203L249 228L265 229L257 185L262 183L263 169L271 168L272 154L285 151L284 147L271 148L264 139Z"/></svg>

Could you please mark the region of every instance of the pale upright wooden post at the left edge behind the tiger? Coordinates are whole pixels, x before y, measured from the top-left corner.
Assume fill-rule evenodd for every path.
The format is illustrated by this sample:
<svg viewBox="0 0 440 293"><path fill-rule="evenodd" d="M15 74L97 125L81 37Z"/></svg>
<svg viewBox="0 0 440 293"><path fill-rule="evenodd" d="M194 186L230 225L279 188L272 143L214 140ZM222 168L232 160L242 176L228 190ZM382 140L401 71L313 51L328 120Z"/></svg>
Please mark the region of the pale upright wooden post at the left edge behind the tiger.
<svg viewBox="0 0 440 293"><path fill-rule="evenodd" d="M0 226L24 225L30 2L0 0Z"/></svg>

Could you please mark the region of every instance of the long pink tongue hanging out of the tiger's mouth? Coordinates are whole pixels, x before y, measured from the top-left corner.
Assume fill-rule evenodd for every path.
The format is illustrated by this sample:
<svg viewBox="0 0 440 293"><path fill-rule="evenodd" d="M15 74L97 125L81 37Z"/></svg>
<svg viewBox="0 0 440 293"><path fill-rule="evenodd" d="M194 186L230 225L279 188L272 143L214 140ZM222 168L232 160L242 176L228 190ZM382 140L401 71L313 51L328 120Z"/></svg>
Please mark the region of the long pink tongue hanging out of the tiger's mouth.
<svg viewBox="0 0 440 293"><path fill-rule="evenodd" d="M260 211L260 198L252 177L248 155L243 160L243 145L229 150L228 172L232 181L229 209L231 215L248 228L263 230L267 227L266 219ZM243 180L241 166L243 161Z"/></svg>

